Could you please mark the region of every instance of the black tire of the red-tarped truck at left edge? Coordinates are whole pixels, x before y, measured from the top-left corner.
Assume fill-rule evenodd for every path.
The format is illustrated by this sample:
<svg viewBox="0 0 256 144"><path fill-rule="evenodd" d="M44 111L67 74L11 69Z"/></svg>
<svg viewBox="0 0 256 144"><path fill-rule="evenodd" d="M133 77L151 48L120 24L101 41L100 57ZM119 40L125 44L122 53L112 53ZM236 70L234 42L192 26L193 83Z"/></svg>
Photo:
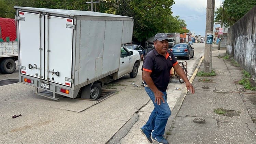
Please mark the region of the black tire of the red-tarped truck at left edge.
<svg viewBox="0 0 256 144"><path fill-rule="evenodd" d="M4 74L13 73L16 70L16 63L13 59L6 58L1 62L0 69Z"/></svg>

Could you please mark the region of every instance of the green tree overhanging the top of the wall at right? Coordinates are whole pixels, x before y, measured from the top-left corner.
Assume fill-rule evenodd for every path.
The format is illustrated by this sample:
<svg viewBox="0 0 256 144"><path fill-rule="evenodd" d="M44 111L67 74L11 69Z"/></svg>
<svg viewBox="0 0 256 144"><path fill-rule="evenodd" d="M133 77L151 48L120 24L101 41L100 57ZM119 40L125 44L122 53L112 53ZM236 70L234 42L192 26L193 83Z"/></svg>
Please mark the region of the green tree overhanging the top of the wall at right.
<svg viewBox="0 0 256 144"><path fill-rule="evenodd" d="M223 24L227 27L232 26L248 11L256 5L255 0L225 0L220 8L215 11L215 21L222 20L224 6Z"/></svg>

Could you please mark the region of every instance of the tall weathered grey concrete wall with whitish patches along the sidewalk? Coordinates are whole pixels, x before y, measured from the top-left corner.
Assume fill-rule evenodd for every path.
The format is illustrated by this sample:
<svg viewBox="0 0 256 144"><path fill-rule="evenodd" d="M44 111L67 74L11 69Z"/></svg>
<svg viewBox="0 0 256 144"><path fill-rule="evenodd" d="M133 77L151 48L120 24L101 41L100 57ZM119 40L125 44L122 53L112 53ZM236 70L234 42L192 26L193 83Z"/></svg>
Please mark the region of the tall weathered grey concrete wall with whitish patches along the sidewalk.
<svg viewBox="0 0 256 144"><path fill-rule="evenodd" d="M227 54L256 81L256 6L228 29Z"/></svg>

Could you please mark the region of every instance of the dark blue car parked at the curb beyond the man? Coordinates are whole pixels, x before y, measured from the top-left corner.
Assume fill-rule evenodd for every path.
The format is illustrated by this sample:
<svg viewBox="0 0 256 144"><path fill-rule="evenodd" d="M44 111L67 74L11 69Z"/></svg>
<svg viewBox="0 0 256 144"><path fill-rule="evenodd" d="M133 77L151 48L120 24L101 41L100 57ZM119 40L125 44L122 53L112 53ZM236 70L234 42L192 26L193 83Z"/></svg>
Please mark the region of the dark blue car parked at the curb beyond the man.
<svg viewBox="0 0 256 144"><path fill-rule="evenodd" d="M180 44L175 44L172 48L171 51L175 57L185 57L187 60L191 58L194 58L194 47L192 47L190 44L187 43L180 43Z"/></svg>

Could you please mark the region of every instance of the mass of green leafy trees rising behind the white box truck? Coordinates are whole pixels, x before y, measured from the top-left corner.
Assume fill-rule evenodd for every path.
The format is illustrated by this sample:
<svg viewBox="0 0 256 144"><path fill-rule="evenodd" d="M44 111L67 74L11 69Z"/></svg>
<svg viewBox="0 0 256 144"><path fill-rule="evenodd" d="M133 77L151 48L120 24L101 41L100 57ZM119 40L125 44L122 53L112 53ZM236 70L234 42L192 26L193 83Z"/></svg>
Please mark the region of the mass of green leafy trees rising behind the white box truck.
<svg viewBox="0 0 256 144"><path fill-rule="evenodd" d="M90 0L0 0L0 14L8 13L9 16L1 17L14 18L14 5L90 11L86 2ZM133 38L141 42L158 32L188 32L182 29L186 27L185 21L172 16L173 4L173 0L100 0L94 3L94 11L133 17Z"/></svg>

